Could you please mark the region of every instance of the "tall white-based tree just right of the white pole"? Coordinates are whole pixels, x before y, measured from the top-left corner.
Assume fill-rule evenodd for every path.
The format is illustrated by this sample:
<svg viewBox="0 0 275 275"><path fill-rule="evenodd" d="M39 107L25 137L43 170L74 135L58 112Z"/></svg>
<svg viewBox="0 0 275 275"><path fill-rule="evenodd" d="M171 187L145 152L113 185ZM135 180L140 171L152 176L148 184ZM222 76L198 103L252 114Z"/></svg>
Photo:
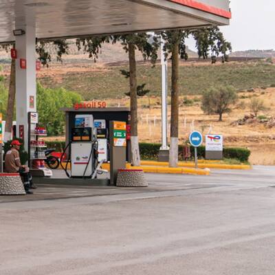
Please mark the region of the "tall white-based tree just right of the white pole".
<svg viewBox="0 0 275 275"><path fill-rule="evenodd" d="M212 63L214 63L219 54L223 54L223 61L228 60L226 53L231 50L231 45L223 38L219 28L201 28L195 31L171 30L161 33L164 39L164 50L166 57L171 55L172 74L171 74L171 115L170 115L170 150L169 166L177 167L178 162L178 140L179 140L179 56L187 60L186 38L193 36L196 41L196 47L199 57L208 58L212 54Z"/></svg>

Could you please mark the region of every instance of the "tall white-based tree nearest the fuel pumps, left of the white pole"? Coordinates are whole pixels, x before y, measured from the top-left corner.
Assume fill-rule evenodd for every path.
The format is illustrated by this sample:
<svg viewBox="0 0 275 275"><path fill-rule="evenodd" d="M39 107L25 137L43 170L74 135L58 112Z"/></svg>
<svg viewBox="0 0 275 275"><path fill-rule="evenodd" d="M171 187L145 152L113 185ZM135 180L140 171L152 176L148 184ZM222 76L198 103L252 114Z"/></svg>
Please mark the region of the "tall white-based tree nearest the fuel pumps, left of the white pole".
<svg viewBox="0 0 275 275"><path fill-rule="evenodd" d="M151 43L149 40L151 39ZM137 135L137 96L146 94L148 90L144 90L144 84L137 85L137 69L135 61L135 50L142 52L144 60L150 59L154 65L157 60L157 50L159 47L158 39L155 34L125 34L112 36L112 42L120 42L123 49L129 56L129 72L124 72L124 76L129 76L130 85L130 107L131 107L131 153L133 166L140 166L140 148Z"/></svg>

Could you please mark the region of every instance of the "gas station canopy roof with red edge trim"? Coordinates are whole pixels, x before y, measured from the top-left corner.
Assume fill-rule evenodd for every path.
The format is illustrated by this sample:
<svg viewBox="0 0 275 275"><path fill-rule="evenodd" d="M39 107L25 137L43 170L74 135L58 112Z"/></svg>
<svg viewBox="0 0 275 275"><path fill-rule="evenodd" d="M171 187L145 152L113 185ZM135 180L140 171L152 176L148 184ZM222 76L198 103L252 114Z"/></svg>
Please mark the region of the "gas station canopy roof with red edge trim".
<svg viewBox="0 0 275 275"><path fill-rule="evenodd" d="M228 0L0 0L0 43L34 25L38 39L228 25Z"/></svg>

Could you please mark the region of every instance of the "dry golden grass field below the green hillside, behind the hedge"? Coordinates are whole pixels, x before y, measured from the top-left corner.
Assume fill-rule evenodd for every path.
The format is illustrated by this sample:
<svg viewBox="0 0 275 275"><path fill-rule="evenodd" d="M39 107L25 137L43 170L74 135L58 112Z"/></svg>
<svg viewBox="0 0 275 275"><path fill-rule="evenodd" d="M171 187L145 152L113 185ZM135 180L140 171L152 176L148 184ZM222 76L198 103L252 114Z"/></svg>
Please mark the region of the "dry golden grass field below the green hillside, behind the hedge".
<svg viewBox="0 0 275 275"><path fill-rule="evenodd" d="M275 88L255 89L252 92L239 92L239 101L231 113L223 115L223 122L218 122L217 115L206 115L201 111L199 96L188 96L191 106L182 102L179 115L179 140L184 142L192 129L207 133L223 134L225 146L247 147L252 151L251 164L275 165L275 127L269 128L263 123L253 122L251 124L236 125L234 122L250 115L250 100L258 98L263 100L266 110L258 115L270 118L275 117ZM139 99L139 136L142 142L161 141L161 98L150 98L151 107L148 108L148 98ZM169 100L168 100L169 101ZM112 100L109 106L129 106L129 100ZM170 120L170 109L168 108L168 121ZM169 134L169 126L168 126Z"/></svg>

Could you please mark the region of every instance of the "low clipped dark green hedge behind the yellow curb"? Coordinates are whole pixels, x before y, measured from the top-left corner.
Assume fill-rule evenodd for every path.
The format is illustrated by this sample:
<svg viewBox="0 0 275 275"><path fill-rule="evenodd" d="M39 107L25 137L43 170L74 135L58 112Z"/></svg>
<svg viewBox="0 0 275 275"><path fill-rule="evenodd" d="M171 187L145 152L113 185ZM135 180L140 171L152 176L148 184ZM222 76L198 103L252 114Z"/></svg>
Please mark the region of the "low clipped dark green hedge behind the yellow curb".
<svg viewBox="0 0 275 275"><path fill-rule="evenodd" d="M56 148L57 152L62 152L65 149L65 142L46 142L47 148ZM159 148L161 144L158 143L140 143L140 157L141 159L157 160L157 155L159 153ZM183 151L183 145L179 145L179 153ZM194 147L191 147L191 157L194 157ZM197 148L197 155L199 159L204 159L206 147L199 146ZM250 157L250 150L247 148L223 148L223 157L226 159L239 159L240 162L248 162ZM179 156L181 159L181 154Z"/></svg>

